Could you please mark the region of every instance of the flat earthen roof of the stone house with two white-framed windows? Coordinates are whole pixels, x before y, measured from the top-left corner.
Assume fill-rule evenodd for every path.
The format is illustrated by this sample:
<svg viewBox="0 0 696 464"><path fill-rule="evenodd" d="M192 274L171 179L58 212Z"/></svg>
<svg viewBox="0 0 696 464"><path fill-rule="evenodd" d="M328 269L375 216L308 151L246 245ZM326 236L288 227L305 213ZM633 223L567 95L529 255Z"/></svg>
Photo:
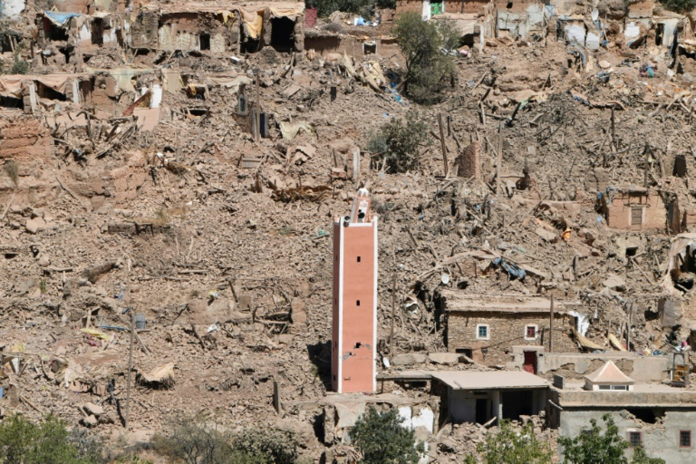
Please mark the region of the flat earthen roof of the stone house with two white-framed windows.
<svg viewBox="0 0 696 464"><path fill-rule="evenodd" d="M525 295L479 295L463 294L461 291L442 290L445 310L450 312L546 312L551 310L551 299L545 296ZM553 312L564 314L569 305L580 305L579 301L553 301Z"/></svg>

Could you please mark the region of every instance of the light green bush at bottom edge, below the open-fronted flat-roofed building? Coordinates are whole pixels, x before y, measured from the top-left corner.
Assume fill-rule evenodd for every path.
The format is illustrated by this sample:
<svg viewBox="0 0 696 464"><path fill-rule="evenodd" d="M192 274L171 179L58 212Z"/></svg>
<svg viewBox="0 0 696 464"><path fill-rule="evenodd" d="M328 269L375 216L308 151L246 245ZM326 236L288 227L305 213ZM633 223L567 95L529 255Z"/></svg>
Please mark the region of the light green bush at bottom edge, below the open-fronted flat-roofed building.
<svg viewBox="0 0 696 464"><path fill-rule="evenodd" d="M509 421L500 423L500 431L488 435L485 443L478 445L484 464L551 464L551 449L542 442L532 429L532 424L522 427L521 431L513 428ZM467 464L474 464L469 456Z"/></svg>

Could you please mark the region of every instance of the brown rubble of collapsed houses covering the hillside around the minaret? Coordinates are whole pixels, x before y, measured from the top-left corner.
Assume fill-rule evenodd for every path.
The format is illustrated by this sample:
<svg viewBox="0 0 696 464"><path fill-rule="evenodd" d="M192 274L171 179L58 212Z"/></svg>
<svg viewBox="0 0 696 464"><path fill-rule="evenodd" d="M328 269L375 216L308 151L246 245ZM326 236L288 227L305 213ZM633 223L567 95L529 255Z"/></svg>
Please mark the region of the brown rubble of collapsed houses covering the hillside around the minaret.
<svg viewBox="0 0 696 464"><path fill-rule="evenodd" d="M381 393L408 369L495 368L444 356L443 289L579 301L586 330L557 328L578 351L651 354L690 337L693 256L667 264L696 223L691 58L676 73L658 45L616 38L574 54L553 32L487 38L455 58L444 101L420 107L390 85L404 63L388 21L365 33L375 54L355 39L365 27L338 17L300 46L298 16L292 43L260 47L224 29L243 12L221 22L211 8L200 15L220 29L189 50L146 43L152 8L127 46L116 12L65 29L31 6L8 29L31 63L0 75L0 413L117 438L129 395L132 433L195 414L306 432L331 388L331 221L359 186L380 218ZM157 14L185 19L175 6ZM88 18L113 42L95 43L97 26L78 40ZM19 33L22 21L32 26ZM340 52L308 48L327 34ZM388 173L367 139L409 111L429 130L420 167ZM650 202L637 223L627 198ZM448 424L425 439L438 462L457 462L486 433ZM311 435L303 453L349 456L338 435Z"/></svg>

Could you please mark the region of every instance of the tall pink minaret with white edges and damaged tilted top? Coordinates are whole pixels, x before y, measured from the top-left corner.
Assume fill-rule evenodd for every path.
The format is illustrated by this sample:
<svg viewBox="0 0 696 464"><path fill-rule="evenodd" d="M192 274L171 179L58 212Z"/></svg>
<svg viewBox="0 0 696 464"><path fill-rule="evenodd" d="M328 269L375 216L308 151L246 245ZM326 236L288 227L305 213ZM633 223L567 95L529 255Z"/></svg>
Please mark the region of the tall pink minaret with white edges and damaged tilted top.
<svg viewBox="0 0 696 464"><path fill-rule="evenodd" d="M350 216L333 217L331 382L338 393L377 389L377 218L369 195L358 190Z"/></svg>

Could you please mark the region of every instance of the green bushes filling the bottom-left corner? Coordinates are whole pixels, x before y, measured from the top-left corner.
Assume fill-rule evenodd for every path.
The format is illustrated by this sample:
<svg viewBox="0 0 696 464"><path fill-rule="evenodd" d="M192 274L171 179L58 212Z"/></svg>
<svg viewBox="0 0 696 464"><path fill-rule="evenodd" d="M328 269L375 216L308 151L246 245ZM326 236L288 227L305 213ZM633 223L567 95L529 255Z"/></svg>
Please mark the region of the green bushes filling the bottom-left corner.
<svg viewBox="0 0 696 464"><path fill-rule="evenodd" d="M101 442L86 434L70 433L54 416L32 424L22 415L0 423L0 464L103 463Z"/></svg>

